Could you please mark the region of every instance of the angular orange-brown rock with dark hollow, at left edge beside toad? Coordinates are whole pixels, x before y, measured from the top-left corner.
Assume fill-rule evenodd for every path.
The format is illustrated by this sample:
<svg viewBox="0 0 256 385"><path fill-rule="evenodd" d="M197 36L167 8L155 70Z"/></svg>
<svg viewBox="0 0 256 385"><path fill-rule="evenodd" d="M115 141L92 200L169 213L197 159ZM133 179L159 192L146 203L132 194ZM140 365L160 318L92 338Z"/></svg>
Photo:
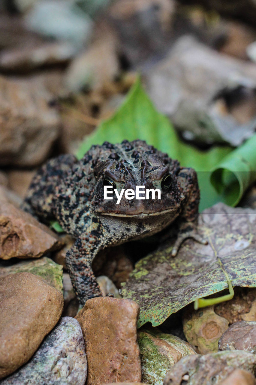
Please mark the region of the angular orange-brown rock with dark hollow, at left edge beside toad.
<svg viewBox="0 0 256 385"><path fill-rule="evenodd" d="M47 226L7 201L0 200L0 258L39 258L61 245Z"/></svg>

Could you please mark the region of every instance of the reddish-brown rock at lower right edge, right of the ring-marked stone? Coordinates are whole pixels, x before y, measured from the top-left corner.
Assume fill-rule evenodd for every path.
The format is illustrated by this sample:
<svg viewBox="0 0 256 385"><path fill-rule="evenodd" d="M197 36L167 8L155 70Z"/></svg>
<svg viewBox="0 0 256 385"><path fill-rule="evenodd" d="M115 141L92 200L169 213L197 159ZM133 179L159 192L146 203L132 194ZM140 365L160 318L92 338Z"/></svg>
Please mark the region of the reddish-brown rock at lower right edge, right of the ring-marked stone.
<svg viewBox="0 0 256 385"><path fill-rule="evenodd" d="M219 350L246 350L256 353L256 321L238 321L221 336Z"/></svg>

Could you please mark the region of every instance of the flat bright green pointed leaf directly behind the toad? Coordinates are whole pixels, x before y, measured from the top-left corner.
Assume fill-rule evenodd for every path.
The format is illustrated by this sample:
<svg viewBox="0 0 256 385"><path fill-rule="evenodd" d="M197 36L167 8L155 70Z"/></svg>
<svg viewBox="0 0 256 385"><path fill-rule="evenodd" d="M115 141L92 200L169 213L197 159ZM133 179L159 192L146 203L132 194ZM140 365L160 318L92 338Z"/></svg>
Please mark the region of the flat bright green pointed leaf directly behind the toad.
<svg viewBox="0 0 256 385"><path fill-rule="evenodd" d="M157 149L167 152L173 159L178 159L181 166L193 167L198 171L201 210L219 201L219 194L209 182L210 170L231 151L231 147L199 151L182 142L169 119L155 109L139 79L116 113L84 139L76 156L78 159L83 157L93 144L102 144L105 141L118 143L123 139L145 140Z"/></svg>

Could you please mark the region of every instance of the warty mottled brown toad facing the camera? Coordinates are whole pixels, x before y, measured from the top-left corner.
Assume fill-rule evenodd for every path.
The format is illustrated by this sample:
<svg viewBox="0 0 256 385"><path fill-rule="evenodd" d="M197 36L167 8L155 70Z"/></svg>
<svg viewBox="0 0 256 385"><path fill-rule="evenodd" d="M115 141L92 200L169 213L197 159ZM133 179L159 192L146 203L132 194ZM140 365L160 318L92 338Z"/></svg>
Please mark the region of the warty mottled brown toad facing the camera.
<svg viewBox="0 0 256 385"><path fill-rule="evenodd" d="M162 181L168 175L171 185L166 190ZM105 178L115 183L118 192L121 188L135 190L136 185L159 188L161 199L127 200L123 195L117 205L115 194L113 200L103 199ZM196 172L136 140L92 146L79 161L72 155L48 161L33 178L23 209L39 219L57 219L77 238L66 254L66 265L84 304L101 295L91 270L99 250L158 233L177 217L180 236L173 255L188 237L203 241L196 233L198 204Z"/></svg>

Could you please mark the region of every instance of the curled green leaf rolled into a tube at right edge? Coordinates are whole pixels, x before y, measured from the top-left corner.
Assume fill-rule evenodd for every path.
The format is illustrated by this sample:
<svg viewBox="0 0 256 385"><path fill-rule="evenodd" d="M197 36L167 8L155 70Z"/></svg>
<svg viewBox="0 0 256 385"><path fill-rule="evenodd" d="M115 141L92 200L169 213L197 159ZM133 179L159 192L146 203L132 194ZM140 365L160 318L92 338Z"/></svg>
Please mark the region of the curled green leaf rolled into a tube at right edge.
<svg viewBox="0 0 256 385"><path fill-rule="evenodd" d="M221 200L236 206L244 191L256 181L256 134L230 152L213 169L211 182Z"/></svg>

